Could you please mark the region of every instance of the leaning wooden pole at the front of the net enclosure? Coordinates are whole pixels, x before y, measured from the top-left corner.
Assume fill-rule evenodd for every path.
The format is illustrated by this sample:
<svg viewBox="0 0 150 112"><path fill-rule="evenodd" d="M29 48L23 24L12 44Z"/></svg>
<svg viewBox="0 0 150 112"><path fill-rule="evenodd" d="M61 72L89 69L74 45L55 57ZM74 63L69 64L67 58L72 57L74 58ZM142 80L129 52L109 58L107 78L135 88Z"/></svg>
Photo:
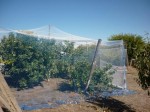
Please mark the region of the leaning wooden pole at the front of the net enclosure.
<svg viewBox="0 0 150 112"><path fill-rule="evenodd" d="M91 65L91 71L90 71L88 82L86 84L84 92L87 91L87 89L88 89L88 87L90 85L91 78L92 78L92 75L93 75L93 72L94 72L94 69L95 69L95 66L96 66L96 55L98 53L98 48L99 48L99 46L101 44L101 41L102 41L101 39L98 39L97 46L96 46L95 53L94 53L94 58L93 58L92 65Z"/></svg>

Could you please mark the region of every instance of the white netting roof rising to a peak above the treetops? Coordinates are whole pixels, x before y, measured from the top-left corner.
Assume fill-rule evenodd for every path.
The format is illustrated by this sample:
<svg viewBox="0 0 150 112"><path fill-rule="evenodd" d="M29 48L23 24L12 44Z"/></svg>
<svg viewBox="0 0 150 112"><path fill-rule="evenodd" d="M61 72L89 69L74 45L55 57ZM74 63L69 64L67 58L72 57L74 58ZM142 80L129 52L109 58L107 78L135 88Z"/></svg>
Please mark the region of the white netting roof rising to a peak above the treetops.
<svg viewBox="0 0 150 112"><path fill-rule="evenodd" d="M57 41L70 41L70 42L95 42L95 39L89 39L81 36L72 35L70 33L64 32L54 26L43 26L40 28L35 29L28 29L28 30L13 30L13 29L0 29L0 33L9 33L15 32L24 35L30 35L37 38L44 38L44 39L55 39Z"/></svg>

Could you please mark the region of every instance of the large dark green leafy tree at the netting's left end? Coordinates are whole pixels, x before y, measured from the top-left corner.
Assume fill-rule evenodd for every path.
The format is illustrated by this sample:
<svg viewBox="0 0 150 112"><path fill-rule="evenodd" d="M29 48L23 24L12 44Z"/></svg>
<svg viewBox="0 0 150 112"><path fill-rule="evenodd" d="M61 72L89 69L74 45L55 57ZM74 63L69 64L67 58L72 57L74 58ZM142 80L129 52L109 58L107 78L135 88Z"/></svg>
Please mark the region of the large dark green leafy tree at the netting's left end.
<svg viewBox="0 0 150 112"><path fill-rule="evenodd" d="M43 79L41 62L38 61L40 54L33 47L34 44L36 43L28 44L14 34L1 41L0 54L5 62L4 74L11 76L13 83L20 88L33 87Z"/></svg>

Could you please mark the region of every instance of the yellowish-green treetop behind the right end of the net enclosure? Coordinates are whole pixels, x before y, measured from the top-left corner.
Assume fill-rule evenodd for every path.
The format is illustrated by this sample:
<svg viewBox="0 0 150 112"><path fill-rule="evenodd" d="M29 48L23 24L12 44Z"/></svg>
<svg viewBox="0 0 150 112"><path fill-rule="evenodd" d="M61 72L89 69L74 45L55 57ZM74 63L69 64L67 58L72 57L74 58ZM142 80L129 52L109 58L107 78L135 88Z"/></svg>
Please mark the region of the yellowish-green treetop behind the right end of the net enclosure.
<svg viewBox="0 0 150 112"><path fill-rule="evenodd" d="M111 36L109 40L123 40L124 41L125 47L127 48L129 62L132 59L135 59L136 54L139 53L140 50L144 46L143 38L139 35L118 34L118 35Z"/></svg>

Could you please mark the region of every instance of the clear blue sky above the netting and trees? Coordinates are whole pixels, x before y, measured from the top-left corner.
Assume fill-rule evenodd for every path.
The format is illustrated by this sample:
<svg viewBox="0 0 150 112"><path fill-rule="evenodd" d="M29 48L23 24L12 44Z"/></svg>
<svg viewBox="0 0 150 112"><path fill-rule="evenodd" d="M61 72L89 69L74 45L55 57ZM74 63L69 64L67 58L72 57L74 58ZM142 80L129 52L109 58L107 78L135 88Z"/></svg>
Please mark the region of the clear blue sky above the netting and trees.
<svg viewBox="0 0 150 112"><path fill-rule="evenodd" d="M0 27L51 24L78 36L107 40L119 33L150 33L150 0L0 0Z"/></svg>

